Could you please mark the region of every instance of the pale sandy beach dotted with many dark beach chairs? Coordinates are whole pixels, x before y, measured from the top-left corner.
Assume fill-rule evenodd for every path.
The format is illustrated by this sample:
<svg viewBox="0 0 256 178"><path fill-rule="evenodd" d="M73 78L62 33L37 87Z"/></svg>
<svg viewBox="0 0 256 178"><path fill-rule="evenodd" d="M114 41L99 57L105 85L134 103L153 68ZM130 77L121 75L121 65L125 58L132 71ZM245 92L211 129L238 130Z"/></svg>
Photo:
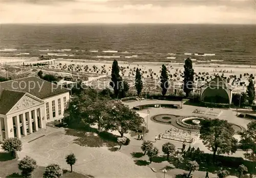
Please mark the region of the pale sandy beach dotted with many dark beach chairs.
<svg viewBox="0 0 256 178"><path fill-rule="evenodd" d="M33 61L33 59L30 59ZM23 61L28 61L27 59L17 59L17 58L1 58L1 64L7 63L15 65ZM34 60L36 61L36 60ZM182 74L184 67L182 63L143 63L143 62L124 62L118 61L120 66L120 75L127 81L130 81L130 85L133 85L135 78L135 71L138 67L141 70L142 76L145 82L157 83L160 81L160 70L162 64L165 64L169 73L170 81L176 87L182 86ZM34 66L37 69L48 69L48 70L59 70L61 72L72 72L81 73L84 75L95 74L100 75L110 75L111 74L112 61L93 61L93 60L71 60L71 59L56 59L55 64L48 66ZM199 88L204 83L210 81L214 78L214 75L224 75L228 84L233 86L233 92L245 92L246 85L248 84L249 75L255 75L256 66L232 66L232 65L219 65L219 64L194 64L195 70L195 84L196 88ZM242 75L242 76L241 76ZM236 76L236 80L234 77ZM254 79L255 80L255 79ZM240 84L243 83L244 84Z"/></svg>

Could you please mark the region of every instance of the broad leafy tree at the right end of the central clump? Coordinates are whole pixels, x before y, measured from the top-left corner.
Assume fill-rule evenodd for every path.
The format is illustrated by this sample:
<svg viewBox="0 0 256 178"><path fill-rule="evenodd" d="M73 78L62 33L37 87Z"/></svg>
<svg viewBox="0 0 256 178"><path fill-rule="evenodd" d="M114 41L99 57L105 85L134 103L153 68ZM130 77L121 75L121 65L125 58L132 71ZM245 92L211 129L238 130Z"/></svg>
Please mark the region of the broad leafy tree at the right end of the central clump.
<svg viewBox="0 0 256 178"><path fill-rule="evenodd" d="M129 130L138 130L144 121L138 113L123 105L120 101L114 103L109 114L111 119L106 121L105 129L118 131L121 137Z"/></svg>

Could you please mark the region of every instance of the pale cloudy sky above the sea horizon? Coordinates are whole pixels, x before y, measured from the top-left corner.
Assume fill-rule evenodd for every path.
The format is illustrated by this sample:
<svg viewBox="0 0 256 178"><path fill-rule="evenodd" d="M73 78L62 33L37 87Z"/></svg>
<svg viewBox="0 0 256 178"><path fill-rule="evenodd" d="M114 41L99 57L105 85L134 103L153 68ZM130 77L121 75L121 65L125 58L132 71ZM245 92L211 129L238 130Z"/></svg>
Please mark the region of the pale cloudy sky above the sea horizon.
<svg viewBox="0 0 256 178"><path fill-rule="evenodd" d="M0 23L252 23L256 0L0 0Z"/></svg>

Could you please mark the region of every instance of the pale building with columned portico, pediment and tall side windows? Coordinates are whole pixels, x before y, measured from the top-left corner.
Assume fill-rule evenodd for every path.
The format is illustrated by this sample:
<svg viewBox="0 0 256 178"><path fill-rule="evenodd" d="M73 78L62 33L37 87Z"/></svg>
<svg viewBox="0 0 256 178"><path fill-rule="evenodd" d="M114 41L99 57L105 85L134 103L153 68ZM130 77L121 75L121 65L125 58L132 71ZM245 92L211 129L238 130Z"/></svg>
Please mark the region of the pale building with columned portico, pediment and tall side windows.
<svg viewBox="0 0 256 178"><path fill-rule="evenodd" d="M37 77L0 83L0 141L21 138L62 121L70 90Z"/></svg>

